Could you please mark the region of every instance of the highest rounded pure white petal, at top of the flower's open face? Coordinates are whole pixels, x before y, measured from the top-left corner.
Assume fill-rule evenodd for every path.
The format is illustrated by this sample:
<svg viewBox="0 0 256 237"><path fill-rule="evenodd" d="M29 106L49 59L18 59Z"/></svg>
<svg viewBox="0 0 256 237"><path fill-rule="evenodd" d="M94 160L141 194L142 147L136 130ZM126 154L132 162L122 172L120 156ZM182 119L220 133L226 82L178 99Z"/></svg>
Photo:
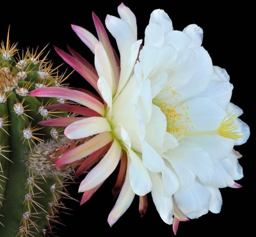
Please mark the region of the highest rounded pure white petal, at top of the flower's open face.
<svg viewBox="0 0 256 237"><path fill-rule="evenodd" d="M168 33L173 30L172 20L168 16L168 14L161 9L157 9L152 11L150 15L149 24L157 23L163 29L164 33Z"/></svg>

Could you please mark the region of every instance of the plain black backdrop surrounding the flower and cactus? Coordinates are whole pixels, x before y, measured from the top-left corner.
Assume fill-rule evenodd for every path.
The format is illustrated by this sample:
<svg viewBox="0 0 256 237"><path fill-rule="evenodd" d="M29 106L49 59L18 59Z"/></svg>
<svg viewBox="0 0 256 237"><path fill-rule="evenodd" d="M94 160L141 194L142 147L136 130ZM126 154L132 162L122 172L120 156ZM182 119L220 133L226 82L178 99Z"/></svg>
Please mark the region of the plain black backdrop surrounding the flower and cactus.
<svg viewBox="0 0 256 237"><path fill-rule="evenodd" d="M82 4L83 3L83 4ZM252 26L252 6L246 1L226 6L214 1L205 1L204 4L197 1L189 1L189 4L174 3L174 1L154 1L154 3L143 2L138 6L136 1L124 1L134 11L137 17L138 37L143 38L144 29L152 10L163 8L173 21L175 29L182 30L188 24L198 24L204 29L205 49L209 51L214 65L227 69L231 82L234 84L232 102L243 108L242 119L253 126L253 113L255 112L255 38L252 33L255 31ZM10 39L12 42L19 42L19 48L44 47L50 43L49 59L54 65L60 65L63 61L52 49L56 45L61 49L67 49L70 45L80 54L93 63L93 55L90 50L79 40L72 31L70 24L82 26L95 34L92 21L92 10L104 21L106 14L117 15L117 6L120 1L3 1L0 6L0 38L6 39L8 25L11 25ZM113 43L115 43L113 41ZM249 57L252 56L252 59ZM255 64L255 62L254 62ZM62 66L63 70L67 65ZM70 70L70 68L69 68ZM85 80L77 73L74 73L68 81L71 86L86 88ZM218 215L209 213L197 220L190 220L181 223L178 236L250 236L253 233L253 213L255 211L253 164L254 134L250 141L242 147L236 148L244 156L240 162L244 167L244 178L239 181L243 188L225 188L223 194L223 206ZM255 145L254 145L255 146ZM61 222L65 226L58 226L55 229L56 236L147 236L157 233L157 236L172 236L172 227L164 224L149 198L149 207L145 217L140 218L138 213L138 198L120 220L110 228L108 226L108 213L115 204L111 195L111 188L115 184L116 173L93 195L92 199L83 206L74 201L65 201L70 215L61 214ZM79 182L79 180L77 180ZM69 188L70 194L77 199L78 184ZM149 197L150 195L148 195ZM250 233L250 234L249 234ZM5 237L5 236L4 236ZM7 236L9 237L9 236Z"/></svg>

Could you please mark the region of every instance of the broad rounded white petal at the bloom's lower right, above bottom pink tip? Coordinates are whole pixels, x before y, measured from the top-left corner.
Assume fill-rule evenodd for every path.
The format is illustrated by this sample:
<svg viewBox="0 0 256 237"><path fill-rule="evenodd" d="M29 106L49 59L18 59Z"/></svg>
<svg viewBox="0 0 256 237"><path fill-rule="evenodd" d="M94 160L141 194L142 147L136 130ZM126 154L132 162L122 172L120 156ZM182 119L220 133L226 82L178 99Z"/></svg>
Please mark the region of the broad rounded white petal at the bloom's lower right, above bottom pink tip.
<svg viewBox="0 0 256 237"><path fill-rule="evenodd" d="M194 181L189 187L177 191L174 199L180 211L188 218L194 219L209 211L211 193L200 183Z"/></svg>

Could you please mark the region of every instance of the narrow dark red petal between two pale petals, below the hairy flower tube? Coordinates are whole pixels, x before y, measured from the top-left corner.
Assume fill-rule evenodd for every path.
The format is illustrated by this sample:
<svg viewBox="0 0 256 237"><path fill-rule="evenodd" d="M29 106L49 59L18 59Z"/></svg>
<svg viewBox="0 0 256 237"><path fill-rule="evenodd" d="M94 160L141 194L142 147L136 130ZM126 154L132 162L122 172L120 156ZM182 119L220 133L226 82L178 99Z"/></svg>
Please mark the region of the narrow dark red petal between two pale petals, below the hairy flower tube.
<svg viewBox="0 0 256 237"><path fill-rule="evenodd" d="M75 178L83 174L85 171L90 169L92 165L94 165L96 162L99 161L100 158L102 158L103 155L106 154L106 152L109 150L111 144L107 144L103 148L98 149L97 151L93 152L89 157L84 160L84 162L79 166L75 173Z"/></svg>

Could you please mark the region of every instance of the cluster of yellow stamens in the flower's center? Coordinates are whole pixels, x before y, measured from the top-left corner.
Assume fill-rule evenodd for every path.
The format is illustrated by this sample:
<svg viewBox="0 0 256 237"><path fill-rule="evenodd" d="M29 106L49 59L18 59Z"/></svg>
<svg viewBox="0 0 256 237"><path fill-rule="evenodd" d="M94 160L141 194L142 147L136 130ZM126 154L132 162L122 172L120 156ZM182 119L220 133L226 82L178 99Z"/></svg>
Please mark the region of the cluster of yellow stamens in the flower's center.
<svg viewBox="0 0 256 237"><path fill-rule="evenodd" d="M166 117L166 131L181 140L190 130L191 121L188 117L188 106L180 100L180 95L170 87L164 88L153 100Z"/></svg>

